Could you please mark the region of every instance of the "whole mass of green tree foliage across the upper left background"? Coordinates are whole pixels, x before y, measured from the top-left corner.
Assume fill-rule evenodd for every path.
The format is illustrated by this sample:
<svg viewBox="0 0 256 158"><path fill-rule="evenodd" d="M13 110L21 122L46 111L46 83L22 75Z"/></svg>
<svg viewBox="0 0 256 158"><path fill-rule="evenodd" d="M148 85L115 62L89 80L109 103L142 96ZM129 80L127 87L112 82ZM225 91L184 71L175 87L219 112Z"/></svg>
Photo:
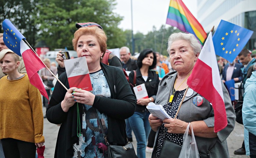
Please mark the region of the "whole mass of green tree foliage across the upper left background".
<svg viewBox="0 0 256 158"><path fill-rule="evenodd" d="M116 48L125 35L117 27L122 17L112 12L114 6L114 0L8 0L0 2L0 20L10 19L32 46L44 40L50 49L73 49L75 24L95 22L104 29L108 48Z"/></svg>

